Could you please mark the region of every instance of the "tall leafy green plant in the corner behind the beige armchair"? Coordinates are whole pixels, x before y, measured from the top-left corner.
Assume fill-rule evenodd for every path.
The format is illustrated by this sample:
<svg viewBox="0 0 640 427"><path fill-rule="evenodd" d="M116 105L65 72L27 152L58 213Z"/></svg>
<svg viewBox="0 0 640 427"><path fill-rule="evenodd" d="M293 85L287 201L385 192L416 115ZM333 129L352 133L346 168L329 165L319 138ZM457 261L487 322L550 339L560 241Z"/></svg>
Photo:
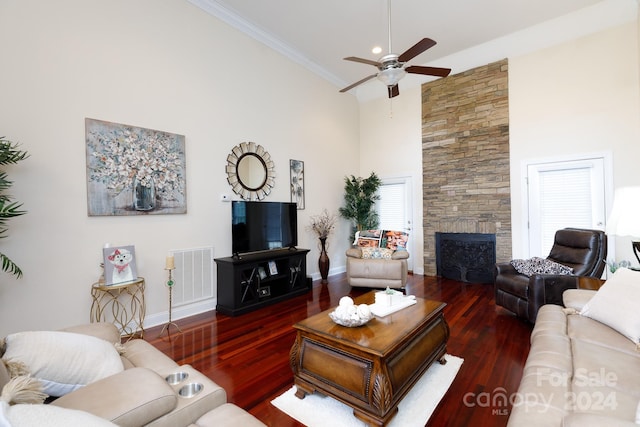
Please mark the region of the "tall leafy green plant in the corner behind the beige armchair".
<svg viewBox="0 0 640 427"><path fill-rule="evenodd" d="M377 194L382 184L375 172L369 178L344 178L344 206L338 211L343 218L353 222L354 229L373 230L378 227L378 213L375 211Z"/></svg>

